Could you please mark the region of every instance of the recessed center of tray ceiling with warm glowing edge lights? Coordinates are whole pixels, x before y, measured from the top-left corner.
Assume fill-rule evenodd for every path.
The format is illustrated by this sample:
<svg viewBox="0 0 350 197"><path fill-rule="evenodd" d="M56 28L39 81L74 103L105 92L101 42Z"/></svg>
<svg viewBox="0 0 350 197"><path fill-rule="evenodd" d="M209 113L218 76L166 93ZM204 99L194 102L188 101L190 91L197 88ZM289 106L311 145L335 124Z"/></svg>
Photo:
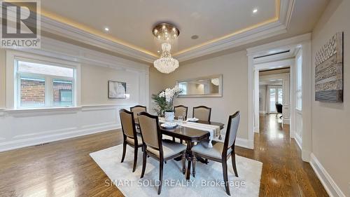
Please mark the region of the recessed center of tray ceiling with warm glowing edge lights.
<svg viewBox="0 0 350 197"><path fill-rule="evenodd" d="M158 22L179 27L181 33L172 49L179 55L278 20L280 1L41 0L41 8L48 18L157 56L160 43L151 31ZM253 13L254 9L258 11ZM191 39L193 35L199 38Z"/></svg>

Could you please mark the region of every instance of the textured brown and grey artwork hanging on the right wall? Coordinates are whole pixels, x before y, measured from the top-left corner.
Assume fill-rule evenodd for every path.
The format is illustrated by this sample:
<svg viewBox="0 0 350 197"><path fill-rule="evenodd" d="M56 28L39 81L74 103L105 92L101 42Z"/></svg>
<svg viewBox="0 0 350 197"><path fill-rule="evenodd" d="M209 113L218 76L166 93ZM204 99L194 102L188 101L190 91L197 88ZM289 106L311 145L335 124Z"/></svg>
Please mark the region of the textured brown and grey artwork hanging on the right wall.
<svg viewBox="0 0 350 197"><path fill-rule="evenodd" d="M343 32L338 32L315 57L315 100L343 102Z"/></svg>

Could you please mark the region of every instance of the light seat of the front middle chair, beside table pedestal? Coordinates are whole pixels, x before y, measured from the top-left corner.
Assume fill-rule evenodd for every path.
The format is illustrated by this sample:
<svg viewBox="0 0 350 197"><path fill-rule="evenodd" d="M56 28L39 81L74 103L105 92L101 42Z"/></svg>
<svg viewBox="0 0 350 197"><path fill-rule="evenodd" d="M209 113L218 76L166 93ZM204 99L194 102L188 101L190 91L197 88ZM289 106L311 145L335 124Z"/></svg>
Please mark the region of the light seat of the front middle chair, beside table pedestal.
<svg viewBox="0 0 350 197"><path fill-rule="evenodd" d="M172 142L171 140L162 140L162 144L164 158L172 157L176 154L179 154L179 152L186 150L185 145ZM147 151L150 151L151 153L155 154L155 156L157 156L158 158L160 157L159 151L156 149L147 147Z"/></svg>

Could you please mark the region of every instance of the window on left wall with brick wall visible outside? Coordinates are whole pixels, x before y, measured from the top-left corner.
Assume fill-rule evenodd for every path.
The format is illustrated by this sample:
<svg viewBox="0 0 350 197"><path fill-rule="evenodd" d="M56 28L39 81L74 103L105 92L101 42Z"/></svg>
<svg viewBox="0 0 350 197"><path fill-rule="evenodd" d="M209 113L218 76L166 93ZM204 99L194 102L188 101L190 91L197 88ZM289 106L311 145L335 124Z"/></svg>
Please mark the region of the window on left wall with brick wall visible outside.
<svg viewBox="0 0 350 197"><path fill-rule="evenodd" d="M17 108L74 106L76 69L66 65L15 59Z"/></svg>

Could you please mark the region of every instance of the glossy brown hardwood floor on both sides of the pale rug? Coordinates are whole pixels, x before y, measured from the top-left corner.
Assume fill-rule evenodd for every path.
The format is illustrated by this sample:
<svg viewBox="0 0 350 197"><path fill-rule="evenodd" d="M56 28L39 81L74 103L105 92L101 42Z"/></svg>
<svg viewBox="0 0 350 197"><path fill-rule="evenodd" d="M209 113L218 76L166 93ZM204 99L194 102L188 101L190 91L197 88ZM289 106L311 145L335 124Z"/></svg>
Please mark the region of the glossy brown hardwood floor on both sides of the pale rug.
<svg viewBox="0 0 350 197"><path fill-rule="evenodd" d="M0 196L123 196L89 156L121 143L113 130L0 153ZM263 163L260 196L328 196L274 115L260 117L255 150L236 153Z"/></svg>

